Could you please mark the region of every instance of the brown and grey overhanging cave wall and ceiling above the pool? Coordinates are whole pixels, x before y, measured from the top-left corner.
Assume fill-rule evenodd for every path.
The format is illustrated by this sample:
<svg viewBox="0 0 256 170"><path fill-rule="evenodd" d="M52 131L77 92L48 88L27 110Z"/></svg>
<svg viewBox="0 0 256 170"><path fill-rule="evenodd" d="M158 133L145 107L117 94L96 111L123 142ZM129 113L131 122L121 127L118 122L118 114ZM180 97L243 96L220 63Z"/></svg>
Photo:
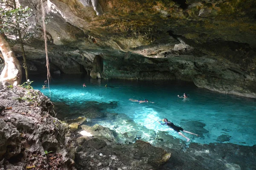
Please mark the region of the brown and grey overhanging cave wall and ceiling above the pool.
<svg viewBox="0 0 256 170"><path fill-rule="evenodd" d="M41 1L19 2L33 9L35 37L25 46L33 65L45 55L42 30L33 27L42 28ZM50 62L63 73L90 74L100 56L104 67L98 78L181 79L256 98L253 0L46 0L44 5ZM17 44L13 48L20 51Z"/></svg>

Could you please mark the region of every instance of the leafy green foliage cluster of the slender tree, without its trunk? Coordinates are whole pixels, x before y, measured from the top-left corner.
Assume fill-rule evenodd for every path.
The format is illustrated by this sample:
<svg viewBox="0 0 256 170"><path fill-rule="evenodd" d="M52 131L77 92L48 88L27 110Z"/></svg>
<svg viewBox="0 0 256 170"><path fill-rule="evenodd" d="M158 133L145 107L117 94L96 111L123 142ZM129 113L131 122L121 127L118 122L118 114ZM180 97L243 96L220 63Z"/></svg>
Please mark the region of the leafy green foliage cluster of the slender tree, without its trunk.
<svg viewBox="0 0 256 170"><path fill-rule="evenodd" d="M31 16L32 9L29 7L22 8L0 8L1 20L3 28L0 33L7 34L12 38L18 39L18 29L21 31L23 39L32 37L32 33L27 31L29 27L28 18ZM14 37L13 37L14 36Z"/></svg>

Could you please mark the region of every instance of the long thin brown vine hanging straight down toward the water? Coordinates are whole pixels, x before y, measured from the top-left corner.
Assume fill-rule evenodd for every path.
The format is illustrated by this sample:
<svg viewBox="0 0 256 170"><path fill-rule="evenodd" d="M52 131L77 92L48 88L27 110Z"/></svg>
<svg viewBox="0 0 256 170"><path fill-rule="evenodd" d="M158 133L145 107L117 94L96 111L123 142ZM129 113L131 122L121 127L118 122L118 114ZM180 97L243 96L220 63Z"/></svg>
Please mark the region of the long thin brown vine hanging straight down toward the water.
<svg viewBox="0 0 256 170"><path fill-rule="evenodd" d="M41 0L41 3L42 3L42 16L43 16L43 28L44 28L44 45L45 45L45 54L46 54L47 80L48 80L48 88L49 88L49 93L51 98L50 83L49 83L49 80L51 79L51 75L50 75L50 65L49 65L49 58L48 58L48 51L47 51L47 37L46 37L45 22L44 22L43 0Z"/></svg>

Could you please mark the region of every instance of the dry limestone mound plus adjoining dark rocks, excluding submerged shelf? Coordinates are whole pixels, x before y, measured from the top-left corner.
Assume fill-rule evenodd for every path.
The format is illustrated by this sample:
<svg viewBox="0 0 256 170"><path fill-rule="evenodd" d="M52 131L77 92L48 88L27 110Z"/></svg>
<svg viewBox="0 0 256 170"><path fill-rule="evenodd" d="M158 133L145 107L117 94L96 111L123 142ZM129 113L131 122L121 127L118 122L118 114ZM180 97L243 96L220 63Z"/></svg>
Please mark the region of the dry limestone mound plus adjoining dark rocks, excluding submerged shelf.
<svg viewBox="0 0 256 170"><path fill-rule="evenodd" d="M51 115L40 91L0 85L0 170L149 170L171 157L141 140L121 145L108 128L80 126L85 119L66 124Z"/></svg>

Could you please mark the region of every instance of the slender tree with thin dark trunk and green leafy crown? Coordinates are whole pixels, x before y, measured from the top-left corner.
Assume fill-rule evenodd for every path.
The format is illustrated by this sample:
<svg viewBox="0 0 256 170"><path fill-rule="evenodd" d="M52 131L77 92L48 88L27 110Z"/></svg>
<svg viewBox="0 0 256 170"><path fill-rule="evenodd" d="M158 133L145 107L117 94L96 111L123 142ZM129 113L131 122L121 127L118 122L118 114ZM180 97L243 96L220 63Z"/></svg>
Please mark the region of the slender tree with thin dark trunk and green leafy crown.
<svg viewBox="0 0 256 170"><path fill-rule="evenodd" d="M26 80L28 80L29 72L27 68L23 40L32 36L30 32L26 31L26 28L29 26L27 19L30 16L31 9L28 7L17 8L15 0L1 0L0 6L5 7L0 8L0 14L2 17L2 28L0 33L4 33L10 38L19 41L23 56L23 67L25 68L26 72Z"/></svg>

